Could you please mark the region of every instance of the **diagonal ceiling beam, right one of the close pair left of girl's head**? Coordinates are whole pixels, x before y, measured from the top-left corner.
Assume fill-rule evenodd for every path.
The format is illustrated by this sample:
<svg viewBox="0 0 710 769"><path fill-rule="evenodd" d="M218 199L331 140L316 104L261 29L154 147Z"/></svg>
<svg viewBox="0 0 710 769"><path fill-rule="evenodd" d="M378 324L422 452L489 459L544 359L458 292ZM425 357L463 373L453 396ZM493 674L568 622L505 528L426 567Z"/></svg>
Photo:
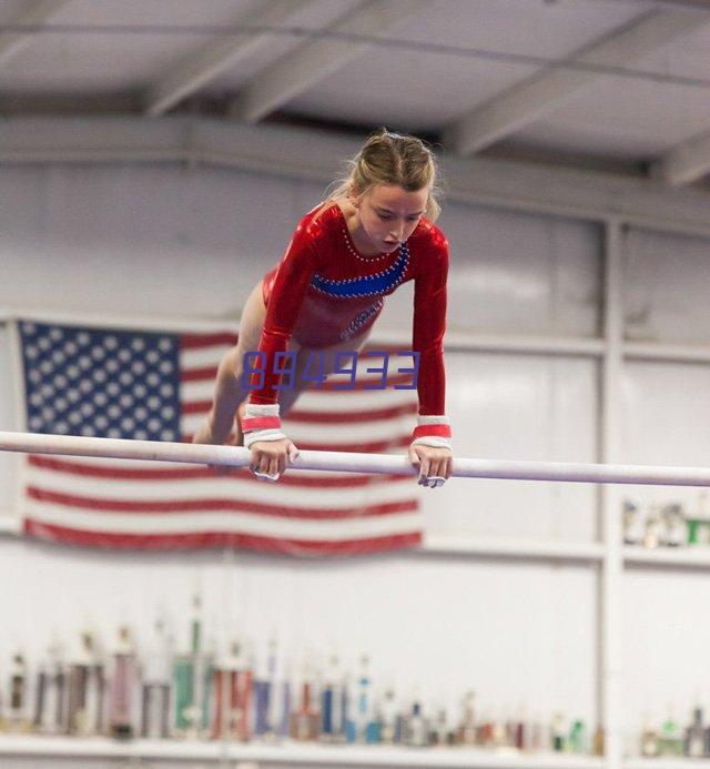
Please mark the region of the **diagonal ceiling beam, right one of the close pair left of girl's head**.
<svg viewBox="0 0 710 769"><path fill-rule="evenodd" d="M367 0L327 30L338 34L371 36L396 29L426 6L426 0ZM321 30L323 31L323 30ZM320 38L300 45L257 74L237 93L230 114L255 123L307 91L332 72L365 53L373 43Z"/></svg>

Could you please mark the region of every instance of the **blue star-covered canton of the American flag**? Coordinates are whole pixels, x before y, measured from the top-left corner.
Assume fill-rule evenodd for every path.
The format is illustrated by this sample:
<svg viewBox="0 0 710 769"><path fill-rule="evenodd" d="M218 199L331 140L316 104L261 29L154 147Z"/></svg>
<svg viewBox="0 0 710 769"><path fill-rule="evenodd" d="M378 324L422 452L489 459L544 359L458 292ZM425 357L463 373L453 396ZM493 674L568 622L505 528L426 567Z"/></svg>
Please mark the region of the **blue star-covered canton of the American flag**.
<svg viewBox="0 0 710 769"><path fill-rule="evenodd" d="M21 323L33 433L180 441L179 340Z"/></svg>

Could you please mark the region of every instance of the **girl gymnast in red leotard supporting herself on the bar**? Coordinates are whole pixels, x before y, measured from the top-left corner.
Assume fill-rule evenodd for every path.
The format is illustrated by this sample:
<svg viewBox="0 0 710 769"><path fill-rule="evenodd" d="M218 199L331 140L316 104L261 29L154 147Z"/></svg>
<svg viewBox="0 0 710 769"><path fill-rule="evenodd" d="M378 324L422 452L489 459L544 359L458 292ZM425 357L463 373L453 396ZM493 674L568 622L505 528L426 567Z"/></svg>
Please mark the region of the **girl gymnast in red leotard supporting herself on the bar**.
<svg viewBox="0 0 710 769"><path fill-rule="evenodd" d="M251 449L254 475L277 480L287 461L298 456L280 417L304 388L313 351L322 356L323 374L333 373L338 353L342 360L362 348L384 297L414 281L419 408L408 454L419 485L443 485L453 455L442 350L448 244L434 224L439 210L428 146L386 129L371 135L349 161L349 176L301 220L278 265L252 291L239 342L220 364L213 404L195 443L223 444L234 427L235 444ZM263 380L253 374L245 401L244 356L252 351L264 353L266 364ZM296 356L291 389L274 389L281 382L273 373L276 353Z"/></svg>

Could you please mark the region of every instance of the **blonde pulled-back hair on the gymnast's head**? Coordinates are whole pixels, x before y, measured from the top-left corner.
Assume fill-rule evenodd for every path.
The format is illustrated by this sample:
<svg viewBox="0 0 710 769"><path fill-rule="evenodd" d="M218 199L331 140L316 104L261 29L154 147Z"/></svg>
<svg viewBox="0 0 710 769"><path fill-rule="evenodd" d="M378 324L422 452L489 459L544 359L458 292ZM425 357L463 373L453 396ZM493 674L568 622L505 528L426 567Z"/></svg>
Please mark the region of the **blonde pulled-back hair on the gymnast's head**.
<svg viewBox="0 0 710 769"><path fill-rule="evenodd" d="M326 202L359 195L376 184L396 184L407 192L429 186L425 215L432 222L442 212L437 181L437 163L432 150L416 136L393 133L382 128L367 138L361 151L347 161L349 173L331 186Z"/></svg>

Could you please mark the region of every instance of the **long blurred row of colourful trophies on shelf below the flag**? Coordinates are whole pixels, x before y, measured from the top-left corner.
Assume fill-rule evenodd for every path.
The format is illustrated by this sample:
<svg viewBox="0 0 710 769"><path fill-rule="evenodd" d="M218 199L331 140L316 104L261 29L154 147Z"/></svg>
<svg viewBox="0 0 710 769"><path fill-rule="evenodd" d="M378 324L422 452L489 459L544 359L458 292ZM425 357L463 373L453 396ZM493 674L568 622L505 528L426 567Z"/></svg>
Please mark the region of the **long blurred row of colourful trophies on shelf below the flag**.
<svg viewBox="0 0 710 769"><path fill-rule="evenodd" d="M427 746L478 746L506 751L601 755L604 733L562 712L529 716L515 709L479 712L473 690L454 707L424 702L413 689L375 687L363 655L352 672L337 654L296 667L280 655L275 638L250 652L219 628L203 634L200 595L192 601L185 642L158 618L138 654L128 625L110 650L84 629L71 648L54 640L30 671L18 650L0 690L0 728L6 732L192 739L264 740ZM181 646L182 648L178 648Z"/></svg>

